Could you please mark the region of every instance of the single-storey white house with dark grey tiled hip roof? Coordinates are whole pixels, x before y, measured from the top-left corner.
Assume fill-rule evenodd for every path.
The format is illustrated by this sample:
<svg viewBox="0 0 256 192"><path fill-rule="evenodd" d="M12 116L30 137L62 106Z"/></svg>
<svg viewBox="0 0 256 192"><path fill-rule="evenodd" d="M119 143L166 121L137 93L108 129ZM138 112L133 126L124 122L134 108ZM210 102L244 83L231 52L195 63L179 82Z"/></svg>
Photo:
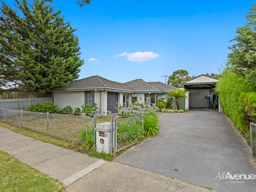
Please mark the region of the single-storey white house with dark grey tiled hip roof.
<svg viewBox="0 0 256 192"><path fill-rule="evenodd" d="M119 83L100 76L91 76L74 80L66 87L51 92L54 92L54 104L60 108L70 105L74 109L83 104L97 103L100 113L116 113L117 103L128 106L130 102L141 103L149 97L148 105L156 103L160 98L166 101L167 91L170 89L177 88L162 82L145 82L142 79Z"/></svg>

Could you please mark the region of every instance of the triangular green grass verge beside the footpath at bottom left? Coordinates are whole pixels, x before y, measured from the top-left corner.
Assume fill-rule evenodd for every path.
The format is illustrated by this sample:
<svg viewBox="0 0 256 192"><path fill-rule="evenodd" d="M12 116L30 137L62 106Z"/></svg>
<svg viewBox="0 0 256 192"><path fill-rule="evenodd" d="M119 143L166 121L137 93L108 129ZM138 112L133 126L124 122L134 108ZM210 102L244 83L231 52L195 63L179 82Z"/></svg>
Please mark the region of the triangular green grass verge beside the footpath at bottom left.
<svg viewBox="0 0 256 192"><path fill-rule="evenodd" d="M65 187L59 181L0 151L0 191L62 192L64 190Z"/></svg>

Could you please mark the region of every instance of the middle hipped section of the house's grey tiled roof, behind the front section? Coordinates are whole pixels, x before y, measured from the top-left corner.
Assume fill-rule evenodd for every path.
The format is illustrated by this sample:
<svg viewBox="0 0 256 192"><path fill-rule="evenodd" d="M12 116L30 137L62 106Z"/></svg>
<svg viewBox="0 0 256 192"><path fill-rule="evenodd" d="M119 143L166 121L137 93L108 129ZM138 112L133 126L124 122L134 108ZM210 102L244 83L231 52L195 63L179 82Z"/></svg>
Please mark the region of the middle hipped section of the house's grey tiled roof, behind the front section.
<svg viewBox="0 0 256 192"><path fill-rule="evenodd" d="M133 81L129 81L124 83L125 85L127 85L128 87L131 87L135 92L148 92L148 91L162 91L144 81L142 81L141 79L135 79Z"/></svg>

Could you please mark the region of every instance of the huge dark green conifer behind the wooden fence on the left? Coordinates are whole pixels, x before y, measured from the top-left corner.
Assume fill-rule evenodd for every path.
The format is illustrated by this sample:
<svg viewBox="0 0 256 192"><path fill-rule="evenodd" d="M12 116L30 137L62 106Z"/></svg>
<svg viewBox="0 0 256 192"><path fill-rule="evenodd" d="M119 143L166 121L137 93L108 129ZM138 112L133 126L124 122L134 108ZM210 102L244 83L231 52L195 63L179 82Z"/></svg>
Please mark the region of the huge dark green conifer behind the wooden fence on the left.
<svg viewBox="0 0 256 192"><path fill-rule="evenodd" d="M15 0L13 10L1 1L0 86L44 92L79 77L76 29L49 2Z"/></svg>

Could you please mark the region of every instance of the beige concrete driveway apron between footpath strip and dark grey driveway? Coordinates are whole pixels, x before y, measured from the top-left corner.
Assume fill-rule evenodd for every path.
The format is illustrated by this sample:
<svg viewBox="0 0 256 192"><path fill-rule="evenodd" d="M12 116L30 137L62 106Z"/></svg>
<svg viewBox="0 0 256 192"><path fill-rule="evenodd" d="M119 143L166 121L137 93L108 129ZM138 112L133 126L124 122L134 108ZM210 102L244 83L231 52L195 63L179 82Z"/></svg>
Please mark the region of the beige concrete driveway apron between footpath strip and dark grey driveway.
<svg viewBox="0 0 256 192"><path fill-rule="evenodd" d="M70 184L67 192L210 192L200 186L116 162L106 163Z"/></svg>

